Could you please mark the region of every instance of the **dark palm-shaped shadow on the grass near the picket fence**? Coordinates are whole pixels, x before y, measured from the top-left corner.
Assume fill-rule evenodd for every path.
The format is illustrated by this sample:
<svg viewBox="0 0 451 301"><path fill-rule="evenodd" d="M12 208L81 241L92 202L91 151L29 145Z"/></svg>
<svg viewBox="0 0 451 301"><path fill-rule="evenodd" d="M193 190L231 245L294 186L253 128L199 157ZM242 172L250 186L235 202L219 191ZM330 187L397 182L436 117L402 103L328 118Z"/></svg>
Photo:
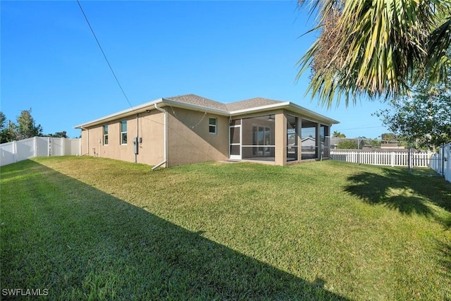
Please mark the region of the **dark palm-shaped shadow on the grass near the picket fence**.
<svg viewBox="0 0 451 301"><path fill-rule="evenodd" d="M409 174L397 168L384 168L383 174L361 172L347 178L345 191L368 204L385 204L402 214L432 216L448 228L451 226L451 184L431 177L426 171ZM447 211L437 215L429 204Z"/></svg>

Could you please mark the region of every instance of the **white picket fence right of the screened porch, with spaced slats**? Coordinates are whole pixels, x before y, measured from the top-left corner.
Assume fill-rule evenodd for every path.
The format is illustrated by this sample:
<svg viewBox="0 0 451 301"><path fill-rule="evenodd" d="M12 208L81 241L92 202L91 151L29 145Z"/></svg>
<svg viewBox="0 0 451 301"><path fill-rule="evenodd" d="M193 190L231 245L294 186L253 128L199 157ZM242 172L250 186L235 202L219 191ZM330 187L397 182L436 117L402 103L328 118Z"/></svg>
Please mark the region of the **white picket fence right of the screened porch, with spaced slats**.
<svg viewBox="0 0 451 301"><path fill-rule="evenodd" d="M411 152L371 152L365 150L330 149L330 159L358 164L384 166L429 167L431 154Z"/></svg>

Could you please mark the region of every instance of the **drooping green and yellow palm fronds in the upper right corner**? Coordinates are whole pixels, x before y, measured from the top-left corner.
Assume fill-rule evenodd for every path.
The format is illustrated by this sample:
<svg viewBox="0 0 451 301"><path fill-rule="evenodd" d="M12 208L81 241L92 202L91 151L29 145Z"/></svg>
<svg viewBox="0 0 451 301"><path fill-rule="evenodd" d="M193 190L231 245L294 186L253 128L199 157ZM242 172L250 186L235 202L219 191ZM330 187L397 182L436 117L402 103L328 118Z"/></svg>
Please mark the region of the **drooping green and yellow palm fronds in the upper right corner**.
<svg viewBox="0 0 451 301"><path fill-rule="evenodd" d="M305 0L298 0L304 4ZM330 107L345 97L399 97L417 80L447 82L450 0L310 0L319 39L299 60L309 92Z"/></svg>

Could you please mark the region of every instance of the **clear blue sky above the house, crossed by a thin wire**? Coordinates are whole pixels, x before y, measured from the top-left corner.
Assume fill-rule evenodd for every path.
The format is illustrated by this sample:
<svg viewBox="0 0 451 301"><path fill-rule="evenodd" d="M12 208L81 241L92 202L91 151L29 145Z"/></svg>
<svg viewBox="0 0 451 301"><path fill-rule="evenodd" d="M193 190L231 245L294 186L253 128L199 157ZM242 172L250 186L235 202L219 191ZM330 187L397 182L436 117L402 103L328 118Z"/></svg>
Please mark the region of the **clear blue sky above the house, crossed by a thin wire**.
<svg viewBox="0 0 451 301"><path fill-rule="evenodd" d="M347 137L386 133L362 100L326 109L305 95L296 63L316 39L296 1L80 1L132 106L198 94L218 102L290 101L340 121ZM130 108L77 1L1 1L1 111L44 133Z"/></svg>

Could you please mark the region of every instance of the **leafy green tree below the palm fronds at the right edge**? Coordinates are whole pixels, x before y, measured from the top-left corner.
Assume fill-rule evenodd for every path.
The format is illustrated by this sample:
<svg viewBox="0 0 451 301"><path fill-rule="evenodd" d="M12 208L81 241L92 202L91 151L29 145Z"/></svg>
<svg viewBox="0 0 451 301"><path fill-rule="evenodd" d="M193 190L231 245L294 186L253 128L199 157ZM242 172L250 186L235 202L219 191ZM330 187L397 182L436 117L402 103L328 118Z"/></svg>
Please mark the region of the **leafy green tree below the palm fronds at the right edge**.
<svg viewBox="0 0 451 301"><path fill-rule="evenodd" d="M451 91L445 85L416 85L412 97L394 99L375 115L418 148L451 142Z"/></svg>

